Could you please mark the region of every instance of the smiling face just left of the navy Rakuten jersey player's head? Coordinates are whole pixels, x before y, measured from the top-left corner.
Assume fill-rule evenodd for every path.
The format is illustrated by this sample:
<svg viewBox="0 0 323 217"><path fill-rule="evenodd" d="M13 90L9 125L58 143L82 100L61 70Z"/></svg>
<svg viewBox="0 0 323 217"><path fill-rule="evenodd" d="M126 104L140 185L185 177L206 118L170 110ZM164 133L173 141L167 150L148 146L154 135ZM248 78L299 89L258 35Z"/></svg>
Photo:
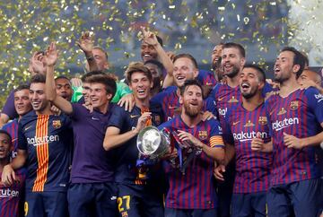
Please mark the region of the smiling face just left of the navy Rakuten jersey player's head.
<svg viewBox="0 0 323 217"><path fill-rule="evenodd" d="M19 116L23 116L31 111L32 107L28 89L14 92L14 109Z"/></svg>

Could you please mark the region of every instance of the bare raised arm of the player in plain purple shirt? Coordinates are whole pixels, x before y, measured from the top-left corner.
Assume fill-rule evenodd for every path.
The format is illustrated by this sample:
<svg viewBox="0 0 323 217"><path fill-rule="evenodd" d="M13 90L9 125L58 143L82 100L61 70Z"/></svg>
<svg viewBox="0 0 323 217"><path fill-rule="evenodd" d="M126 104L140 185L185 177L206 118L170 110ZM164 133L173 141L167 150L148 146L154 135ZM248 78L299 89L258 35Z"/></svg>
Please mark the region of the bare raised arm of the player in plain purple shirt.
<svg viewBox="0 0 323 217"><path fill-rule="evenodd" d="M54 65L57 62L58 51L54 42L50 43L46 54L44 56L44 62L47 65L46 74L46 97L51 101L58 109L61 109L65 114L71 114L73 112L72 104L64 98L57 95L55 79L54 79Z"/></svg>

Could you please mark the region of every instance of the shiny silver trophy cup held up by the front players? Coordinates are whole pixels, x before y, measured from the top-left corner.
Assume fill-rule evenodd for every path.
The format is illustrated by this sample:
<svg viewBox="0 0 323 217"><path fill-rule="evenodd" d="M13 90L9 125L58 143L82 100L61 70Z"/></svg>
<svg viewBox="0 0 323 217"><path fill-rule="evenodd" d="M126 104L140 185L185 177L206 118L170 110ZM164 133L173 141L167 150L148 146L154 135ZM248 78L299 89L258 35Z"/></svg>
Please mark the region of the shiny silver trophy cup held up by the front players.
<svg viewBox="0 0 323 217"><path fill-rule="evenodd" d="M146 126L137 136L137 149L150 159L161 158L170 147L170 135L155 126Z"/></svg>

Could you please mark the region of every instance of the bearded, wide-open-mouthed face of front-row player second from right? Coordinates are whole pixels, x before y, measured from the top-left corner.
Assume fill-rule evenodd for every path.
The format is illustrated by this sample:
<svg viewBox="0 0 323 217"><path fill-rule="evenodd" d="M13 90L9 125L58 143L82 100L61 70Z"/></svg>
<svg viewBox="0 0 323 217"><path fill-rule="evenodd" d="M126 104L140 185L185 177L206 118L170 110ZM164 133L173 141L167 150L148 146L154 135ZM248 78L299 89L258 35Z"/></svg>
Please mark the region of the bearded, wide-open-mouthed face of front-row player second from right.
<svg viewBox="0 0 323 217"><path fill-rule="evenodd" d="M256 69L245 67L240 74L239 86L242 96L250 99L262 89L264 82L259 81Z"/></svg>

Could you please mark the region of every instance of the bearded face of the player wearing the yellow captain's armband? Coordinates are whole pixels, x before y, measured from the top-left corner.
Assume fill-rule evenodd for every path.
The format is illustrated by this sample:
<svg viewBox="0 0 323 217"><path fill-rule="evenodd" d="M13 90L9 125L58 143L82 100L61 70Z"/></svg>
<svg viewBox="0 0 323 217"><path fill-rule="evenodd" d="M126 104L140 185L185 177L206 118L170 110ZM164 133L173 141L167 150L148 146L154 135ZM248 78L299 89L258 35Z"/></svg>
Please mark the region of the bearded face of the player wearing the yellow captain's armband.
<svg viewBox="0 0 323 217"><path fill-rule="evenodd" d="M202 90L197 85L189 85L179 98L183 111L188 117L196 117L203 109Z"/></svg>

